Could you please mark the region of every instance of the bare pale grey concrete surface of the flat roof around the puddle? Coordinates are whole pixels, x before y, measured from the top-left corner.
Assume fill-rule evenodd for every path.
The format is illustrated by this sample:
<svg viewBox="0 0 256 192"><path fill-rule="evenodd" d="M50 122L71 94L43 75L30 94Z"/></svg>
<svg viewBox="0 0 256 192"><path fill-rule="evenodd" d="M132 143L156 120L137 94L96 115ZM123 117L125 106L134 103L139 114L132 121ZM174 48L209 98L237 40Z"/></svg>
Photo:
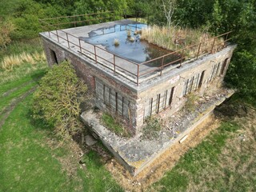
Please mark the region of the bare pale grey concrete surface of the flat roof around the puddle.
<svg viewBox="0 0 256 192"><path fill-rule="evenodd" d="M111 77L116 78L119 82L125 83L136 91L143 90L146 86L152 83L153 80L155 81L156 78L158 79L158 82L160 76L162 79L166 76L170 77L177 75L182 72L182 69L185 70L186 68L187 70L188 66L183 66L188 62L194 62L194 60L196 60L190 59L190 61L184 61L181 58L178 62L170 62L167 65L151 65L151 63L161 63L166 60L166 57L172 54L170 53L166 56L154 58L153 60L139 64L106 50L106 46L93 45L90 42L84 41L85 38L90 38L90 33L94 30L110 28L116 25L128 26L130 24L136 25L139 23L129 19L123 19L90 26L78 26L64 30L51 30L40 34L43 38L49 39L51 42L62 46L63 49L76 53L80 58L89 58L90 60L87 61L90 62L92 60L90 62L91 64L94 65L96 62L100 65L100 68L103 70L105 69L105 72ZM190 67L192 66L190 65L189 68Z"/></svg>

